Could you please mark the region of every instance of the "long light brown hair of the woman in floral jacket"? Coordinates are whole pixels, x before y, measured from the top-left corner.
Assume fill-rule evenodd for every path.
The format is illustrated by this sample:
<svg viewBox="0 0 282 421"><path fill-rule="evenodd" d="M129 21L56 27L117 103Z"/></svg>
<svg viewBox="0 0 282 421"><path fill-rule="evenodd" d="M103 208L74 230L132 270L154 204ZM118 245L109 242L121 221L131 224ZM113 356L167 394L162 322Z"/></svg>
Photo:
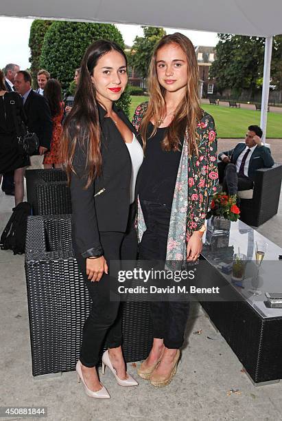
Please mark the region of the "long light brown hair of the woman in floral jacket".
<svg viewBox="0 0 282 421"><path fill-rule="evenodd" d="M146 133L148 131L149 122L154 121L154 131L156 133L158 122L160 122L166 114L165 105L165 88L158 83L156 73L156 54L164 45L176 44L183 50L187 58L187 89L182 101L176 108L174 119L169 127L167 127L165 138L162 142L162 148L165 151L178 150L180 139L183 138L187 130L189 153L195 151L198 154L198 145L196 139L196 127L198 121L202 118L202 109L199 99L199 72L198 62L195 50L191 41L187 36L176 32L172 35L165 35L154 48L151 58L149 74L148 74L148 91L149 103L148 109L141 122L141 136L145 145Z"/></svg>

